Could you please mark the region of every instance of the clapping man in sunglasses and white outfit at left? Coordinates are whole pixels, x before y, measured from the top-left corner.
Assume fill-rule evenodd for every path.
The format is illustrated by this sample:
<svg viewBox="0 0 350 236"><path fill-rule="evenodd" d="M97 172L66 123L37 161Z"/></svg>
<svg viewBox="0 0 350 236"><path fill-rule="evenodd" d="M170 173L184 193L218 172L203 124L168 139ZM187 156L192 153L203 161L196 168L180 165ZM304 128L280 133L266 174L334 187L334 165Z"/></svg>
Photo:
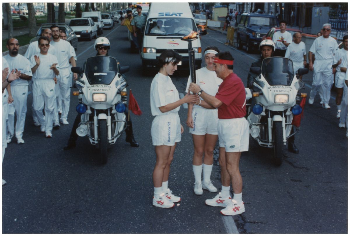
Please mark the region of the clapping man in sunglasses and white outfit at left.
<svg viewBox="0 0 350 236"><path fill-rule="evenodd" d="M33 73L33 104L40 131L45 132L47 138L52 137L52 121L54 118L55 79L59 75L58 61L55 55L48 53L50 40L40 37L38 40L40 53L30 58L30 67ZM45 116L43 108L45 106Z"/></svg>

